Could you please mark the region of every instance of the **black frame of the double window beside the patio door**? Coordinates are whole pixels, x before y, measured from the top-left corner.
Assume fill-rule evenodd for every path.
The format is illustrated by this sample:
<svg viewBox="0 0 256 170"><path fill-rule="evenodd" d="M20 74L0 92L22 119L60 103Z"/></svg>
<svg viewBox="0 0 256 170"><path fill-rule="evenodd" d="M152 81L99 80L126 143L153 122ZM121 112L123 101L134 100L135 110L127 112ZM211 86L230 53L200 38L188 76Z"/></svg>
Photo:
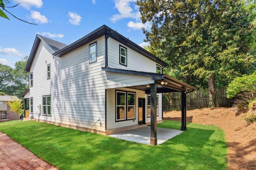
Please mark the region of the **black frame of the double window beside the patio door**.
<svg viewBox="0 0 256 170"><path fill-rule="evenodd" d="M125 105L117 105L117 93L124 93L125 94ZM134 94L134 105L128 105L128 94ZM124 119L117 119L117 107L124 106ZM128 118L128 107L134 106L134 117ZM115 91L115 121L129 121L129 120L135 120L136 119L136 92L130 92L130 91L124 91L124 90L116 90Z"/></svg>

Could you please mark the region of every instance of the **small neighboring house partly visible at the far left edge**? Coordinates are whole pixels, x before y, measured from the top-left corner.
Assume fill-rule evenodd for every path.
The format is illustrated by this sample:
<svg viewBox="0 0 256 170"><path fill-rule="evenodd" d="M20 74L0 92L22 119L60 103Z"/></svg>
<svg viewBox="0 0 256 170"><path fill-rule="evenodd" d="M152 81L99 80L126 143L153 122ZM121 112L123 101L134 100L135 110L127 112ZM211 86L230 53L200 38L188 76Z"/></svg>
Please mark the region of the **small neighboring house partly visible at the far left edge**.
<svg viewBox="0 0 256 170"><path fill-rule="evenodd" d="M16 96L0 96L0 122L17 120L17 114L13 111L10 111L11 107L7 104L7 102L15 100L19 100L19 98Z"/></svg>

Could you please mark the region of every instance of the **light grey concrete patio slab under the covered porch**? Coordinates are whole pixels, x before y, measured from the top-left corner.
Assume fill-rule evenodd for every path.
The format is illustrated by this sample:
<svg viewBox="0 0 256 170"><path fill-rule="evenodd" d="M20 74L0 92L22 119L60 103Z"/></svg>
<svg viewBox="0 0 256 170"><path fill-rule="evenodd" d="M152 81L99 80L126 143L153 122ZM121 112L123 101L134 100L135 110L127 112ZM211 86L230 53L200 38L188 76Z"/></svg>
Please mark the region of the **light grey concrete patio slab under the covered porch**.
<svg viewBox="0 0 256 170"><path fill-rule="evenodd" d="M167 129L162 127L157 127L156 129L157 145L164 143L165 141L175 137L176 135L180 135L180 133L182 132L183 131L176 130L176 129ZM114 133L108 136L115 137L118 139L124 139L126 141L132 141L132 142L144 143L144 144L150 145L150 126L141 127L138 129L133 129L130 131L124 131L120 133Z"/></svg>

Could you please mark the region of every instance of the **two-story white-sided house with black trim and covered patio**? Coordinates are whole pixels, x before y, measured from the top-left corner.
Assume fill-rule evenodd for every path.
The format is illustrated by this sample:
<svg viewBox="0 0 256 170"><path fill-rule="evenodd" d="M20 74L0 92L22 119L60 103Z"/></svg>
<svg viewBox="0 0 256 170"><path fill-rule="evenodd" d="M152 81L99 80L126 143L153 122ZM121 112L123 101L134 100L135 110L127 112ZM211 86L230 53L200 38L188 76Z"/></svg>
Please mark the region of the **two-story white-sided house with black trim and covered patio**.
<svg viewBox="0 0 256 170"><path fill-rule="evenodd" d="M162 93L194 87L162 69L166 63L103 25L70 45L36 35L25 71L30 73L30 114L40 121L109 135L162 121ZM185 116L185 117L184 117Z"/></svg>

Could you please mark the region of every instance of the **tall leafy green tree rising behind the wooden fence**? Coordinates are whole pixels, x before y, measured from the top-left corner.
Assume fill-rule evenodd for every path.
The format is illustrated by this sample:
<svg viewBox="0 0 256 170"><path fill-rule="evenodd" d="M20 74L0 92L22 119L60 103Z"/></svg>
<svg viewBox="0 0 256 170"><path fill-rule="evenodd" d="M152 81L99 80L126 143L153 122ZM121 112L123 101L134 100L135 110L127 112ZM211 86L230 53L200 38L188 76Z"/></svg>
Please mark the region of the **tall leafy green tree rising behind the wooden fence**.
<svg viewBox="0 0 256 170"><path fill-rule="evenodd" d="M249 1L247 1L249 2ZM240 0L138 0L150 52L183 81L205 87L215 107L215 86L250 72L255 61L254 5ZM251 11L251 12L249 12Z"/></svg>

